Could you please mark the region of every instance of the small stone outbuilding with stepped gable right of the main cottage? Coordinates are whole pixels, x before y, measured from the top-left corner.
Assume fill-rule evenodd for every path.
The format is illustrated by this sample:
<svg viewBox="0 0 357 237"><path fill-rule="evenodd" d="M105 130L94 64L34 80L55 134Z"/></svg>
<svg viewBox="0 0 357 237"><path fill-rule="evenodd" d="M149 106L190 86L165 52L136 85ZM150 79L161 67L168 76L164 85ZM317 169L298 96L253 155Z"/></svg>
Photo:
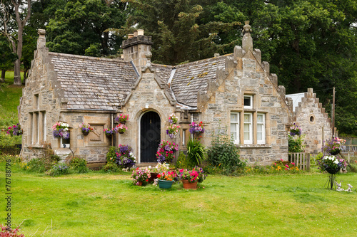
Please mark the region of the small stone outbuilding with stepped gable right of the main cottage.
<svg viewBox="0 0 357 237"><path fill-rule="evenodd" d="M307 93L286 95L286 98L291 98L293 102L292 122L296 122L305 135L305 152L321 152L323 141L332 137L332 124L313 89L308 88Z"/></svg>

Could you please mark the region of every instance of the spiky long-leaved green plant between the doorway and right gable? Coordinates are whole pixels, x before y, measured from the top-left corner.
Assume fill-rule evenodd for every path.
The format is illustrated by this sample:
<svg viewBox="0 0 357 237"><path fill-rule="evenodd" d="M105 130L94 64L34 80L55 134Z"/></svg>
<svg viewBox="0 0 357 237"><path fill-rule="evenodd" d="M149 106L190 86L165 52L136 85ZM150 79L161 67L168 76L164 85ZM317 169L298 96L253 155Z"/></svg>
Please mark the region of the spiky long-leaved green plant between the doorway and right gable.
<svg viewBox="0 0 357 237"><path fill-rule="evenodd" d="M198 139L189 139L187 142L187 159L190 167L202 164L206 159L206 149Z"/></svg>

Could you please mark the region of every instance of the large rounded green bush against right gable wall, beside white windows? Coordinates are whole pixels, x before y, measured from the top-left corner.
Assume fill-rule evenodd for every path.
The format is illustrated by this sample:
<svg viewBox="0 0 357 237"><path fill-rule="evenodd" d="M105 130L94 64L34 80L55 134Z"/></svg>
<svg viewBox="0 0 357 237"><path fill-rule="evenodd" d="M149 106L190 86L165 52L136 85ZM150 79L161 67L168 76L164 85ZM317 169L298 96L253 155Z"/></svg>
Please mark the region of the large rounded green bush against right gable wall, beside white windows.
<svg viewBox="0 0 357 237"><path fill-rule="evenodd" d="M246 166L246 163L239 159L239 147L228 135L213 135L207 154L209 164L226 169L228 173Z"/></svg>

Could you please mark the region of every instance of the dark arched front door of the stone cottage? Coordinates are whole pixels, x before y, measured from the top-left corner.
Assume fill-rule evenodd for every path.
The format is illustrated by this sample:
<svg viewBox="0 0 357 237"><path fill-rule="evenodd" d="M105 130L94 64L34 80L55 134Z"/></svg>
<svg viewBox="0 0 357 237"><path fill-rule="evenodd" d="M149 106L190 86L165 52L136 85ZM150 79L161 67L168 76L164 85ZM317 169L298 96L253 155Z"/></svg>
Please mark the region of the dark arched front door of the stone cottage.
<svg viewBox="0 0 357 237"><path fill-rule="evenodd" d="M156 151L160 144L160 116L154 112L146 112L140 121L140 160L156 162Z"/></svg>

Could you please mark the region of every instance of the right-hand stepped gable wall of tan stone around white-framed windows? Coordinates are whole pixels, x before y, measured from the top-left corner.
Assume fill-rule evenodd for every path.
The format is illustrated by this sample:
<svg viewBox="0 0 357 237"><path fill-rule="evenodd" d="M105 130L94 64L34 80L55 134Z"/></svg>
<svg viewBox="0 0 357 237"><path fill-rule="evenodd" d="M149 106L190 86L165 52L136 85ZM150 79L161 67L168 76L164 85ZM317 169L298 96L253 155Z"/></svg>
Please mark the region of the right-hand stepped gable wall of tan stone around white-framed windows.
<svg viewBox="0 0 357 237"><path fill-rule="evenodd" d="M249 163L269 164L288 159L288 106L285 90L277 85L276 75L269 74L268 63L257 60L260 51L242 51L236 46L234 57L227 57L225 68L217 71L216 80L208 82L207 93L198 94L198 108L206 123L204 143L209 146L214 133L231 134L231 112L239 115L241 159ZM243 96L253 97L252 108L243 105ZM252 144L244 144L244 113L253 117ZM265 115L265 142L257 142L257 114Z"/></svg>

